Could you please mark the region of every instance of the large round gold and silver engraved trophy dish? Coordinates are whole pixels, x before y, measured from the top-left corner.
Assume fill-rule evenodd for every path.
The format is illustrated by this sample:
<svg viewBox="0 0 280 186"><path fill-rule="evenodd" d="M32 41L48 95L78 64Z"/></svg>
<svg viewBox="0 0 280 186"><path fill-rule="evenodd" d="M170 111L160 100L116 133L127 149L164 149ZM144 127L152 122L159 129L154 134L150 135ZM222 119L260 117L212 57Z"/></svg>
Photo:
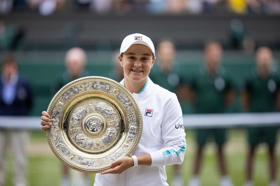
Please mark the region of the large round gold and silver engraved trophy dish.
<svg viewBox="0 0 280 186"><path fill-rule="evenodd" d="M53 153L78 171L101 172L131 156L142 133L132 94L109 78L89 76L62 87L48 107L46 137Z"/></svg>

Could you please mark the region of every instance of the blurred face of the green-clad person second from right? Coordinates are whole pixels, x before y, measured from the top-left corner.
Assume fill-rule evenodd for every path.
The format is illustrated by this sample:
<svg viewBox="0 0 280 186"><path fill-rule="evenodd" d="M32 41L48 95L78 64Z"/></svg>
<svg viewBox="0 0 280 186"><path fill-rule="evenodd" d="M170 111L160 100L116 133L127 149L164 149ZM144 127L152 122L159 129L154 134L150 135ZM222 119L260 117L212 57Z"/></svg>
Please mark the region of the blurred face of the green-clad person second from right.
<svg viewBox="0 0 280 186"><path fill-rule="evenodd" d="M215 70L222 58L222 48L218 43L211 43L206 46L204 57L207 67Z"/></svg>

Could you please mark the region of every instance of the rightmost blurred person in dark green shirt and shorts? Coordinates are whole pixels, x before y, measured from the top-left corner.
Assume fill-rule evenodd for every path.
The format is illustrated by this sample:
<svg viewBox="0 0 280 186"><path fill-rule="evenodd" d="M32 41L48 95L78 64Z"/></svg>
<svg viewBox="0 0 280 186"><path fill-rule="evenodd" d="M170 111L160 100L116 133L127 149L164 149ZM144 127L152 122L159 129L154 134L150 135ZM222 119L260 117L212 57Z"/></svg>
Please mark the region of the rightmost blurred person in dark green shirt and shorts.
<svg viewBox="0 0 280 186"><path fill-rule="evenodd" d="M259 47L256 54L256 68L244 84L242 100L244 109L248 112L276 112L280 111L280 81L279 77L271 71L272 51L268 47ZM276 183L276 157L275 143L278 126L249 127L248 143L250 145L246 164L246 186L252 186L253 157L258 143L263 138L267 143L269 152L269 186Z"/></svg>

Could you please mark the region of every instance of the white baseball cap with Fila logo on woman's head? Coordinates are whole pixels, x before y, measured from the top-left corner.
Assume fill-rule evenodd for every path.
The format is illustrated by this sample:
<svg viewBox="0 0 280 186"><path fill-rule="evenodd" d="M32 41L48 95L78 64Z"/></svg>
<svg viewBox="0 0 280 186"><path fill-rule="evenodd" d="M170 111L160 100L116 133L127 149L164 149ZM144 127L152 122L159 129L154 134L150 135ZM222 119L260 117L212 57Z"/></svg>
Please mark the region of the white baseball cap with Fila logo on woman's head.
<svg viewBox="0 0 280 186"><path fill-rule="evenodd" d="M129 49L129 47L133 44L143 44L149 47L149 49L153 52L155 56L155 47L152 40L146 35L139 33L128 35L123 39L122 45L120 46L120 54L127 51L127 49Z"/></svg>

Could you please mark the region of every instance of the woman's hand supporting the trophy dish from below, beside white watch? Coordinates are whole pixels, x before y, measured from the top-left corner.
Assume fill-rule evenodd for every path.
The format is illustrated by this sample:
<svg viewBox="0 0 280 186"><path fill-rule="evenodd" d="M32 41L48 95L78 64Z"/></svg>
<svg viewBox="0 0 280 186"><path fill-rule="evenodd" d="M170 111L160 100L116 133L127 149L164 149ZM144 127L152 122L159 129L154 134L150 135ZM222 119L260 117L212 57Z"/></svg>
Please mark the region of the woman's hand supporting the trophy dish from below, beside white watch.
<svg viewBox="0 0 280 186"><path fill-rule="evenodd" d="M134 165L133 158L121 157L115 162L110 164L111 169L101 172L101 174L121 174L123 171Z"/></svg>

